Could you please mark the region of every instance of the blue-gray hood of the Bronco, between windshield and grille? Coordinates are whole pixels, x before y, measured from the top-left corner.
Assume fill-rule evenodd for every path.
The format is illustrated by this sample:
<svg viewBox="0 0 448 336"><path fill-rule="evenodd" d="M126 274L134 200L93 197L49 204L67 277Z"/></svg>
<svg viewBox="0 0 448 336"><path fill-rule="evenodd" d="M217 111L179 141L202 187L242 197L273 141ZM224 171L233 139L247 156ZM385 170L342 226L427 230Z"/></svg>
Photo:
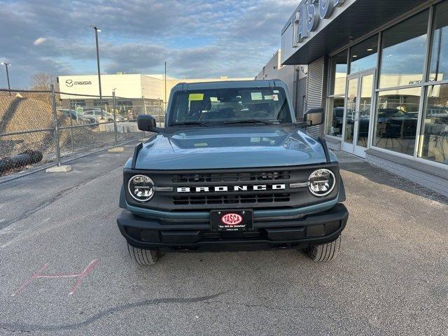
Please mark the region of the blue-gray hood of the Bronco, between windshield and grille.
<svg viewBox="0 0 448 336"><path fill-rule="evenodd" d="M322 145L282 125L195 127L158 134L137 157L137 169L282 167L325 162Z"/></svg>

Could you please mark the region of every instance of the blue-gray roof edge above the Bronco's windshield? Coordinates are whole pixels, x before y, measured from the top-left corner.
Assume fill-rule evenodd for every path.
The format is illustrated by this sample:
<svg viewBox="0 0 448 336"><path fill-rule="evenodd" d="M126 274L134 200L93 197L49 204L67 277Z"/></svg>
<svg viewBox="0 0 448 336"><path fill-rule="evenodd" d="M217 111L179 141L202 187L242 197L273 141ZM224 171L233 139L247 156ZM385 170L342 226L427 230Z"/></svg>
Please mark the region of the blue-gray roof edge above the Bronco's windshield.
<svg viewBox="0 0 448 336"><path fill-rule="evenodd" d="M218 82L178 83L174 90L227 89L232 87L286 87L279 79L271 80L221 80Z"/></svg>

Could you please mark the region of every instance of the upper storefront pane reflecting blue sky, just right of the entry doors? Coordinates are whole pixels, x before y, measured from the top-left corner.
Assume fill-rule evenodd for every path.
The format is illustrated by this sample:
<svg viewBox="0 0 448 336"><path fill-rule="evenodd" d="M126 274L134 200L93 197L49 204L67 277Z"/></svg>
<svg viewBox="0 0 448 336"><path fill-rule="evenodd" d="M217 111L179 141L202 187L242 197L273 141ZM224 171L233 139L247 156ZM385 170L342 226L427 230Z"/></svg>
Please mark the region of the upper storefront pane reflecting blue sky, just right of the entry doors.
<svg viewBox="0 0 448 336"><path fill-rule="evenodd" d="M421 83L426 55L429 11L398 23L383 33L379 87Z"/></svg>

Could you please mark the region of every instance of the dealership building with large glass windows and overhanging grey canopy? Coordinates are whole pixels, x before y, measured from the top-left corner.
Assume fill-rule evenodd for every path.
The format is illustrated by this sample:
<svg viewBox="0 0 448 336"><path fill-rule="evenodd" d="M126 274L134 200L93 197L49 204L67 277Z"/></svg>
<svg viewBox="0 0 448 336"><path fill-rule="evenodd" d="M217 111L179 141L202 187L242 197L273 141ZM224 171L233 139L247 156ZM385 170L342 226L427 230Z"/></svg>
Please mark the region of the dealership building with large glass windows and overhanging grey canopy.
<svg viewBox="0 0 448 336"><path fill-rule="evenodd" d="M309 132L448 195L448 0L302 0L281 64L306 66L295 99L325 109Z"/></svg>

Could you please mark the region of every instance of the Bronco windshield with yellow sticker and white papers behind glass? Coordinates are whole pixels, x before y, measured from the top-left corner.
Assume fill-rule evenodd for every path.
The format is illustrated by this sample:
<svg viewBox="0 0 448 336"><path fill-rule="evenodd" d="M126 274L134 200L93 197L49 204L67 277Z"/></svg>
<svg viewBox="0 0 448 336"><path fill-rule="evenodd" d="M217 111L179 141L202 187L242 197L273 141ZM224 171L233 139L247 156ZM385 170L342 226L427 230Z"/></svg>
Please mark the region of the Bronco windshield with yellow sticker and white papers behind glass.
<svg viewBox="0 0 448 336"><path fill-rule="evenodd" d="M292 123L288 100L281 87L179 91L174 94L169 114L169 125L208 126L258 120Z"/></svg>

